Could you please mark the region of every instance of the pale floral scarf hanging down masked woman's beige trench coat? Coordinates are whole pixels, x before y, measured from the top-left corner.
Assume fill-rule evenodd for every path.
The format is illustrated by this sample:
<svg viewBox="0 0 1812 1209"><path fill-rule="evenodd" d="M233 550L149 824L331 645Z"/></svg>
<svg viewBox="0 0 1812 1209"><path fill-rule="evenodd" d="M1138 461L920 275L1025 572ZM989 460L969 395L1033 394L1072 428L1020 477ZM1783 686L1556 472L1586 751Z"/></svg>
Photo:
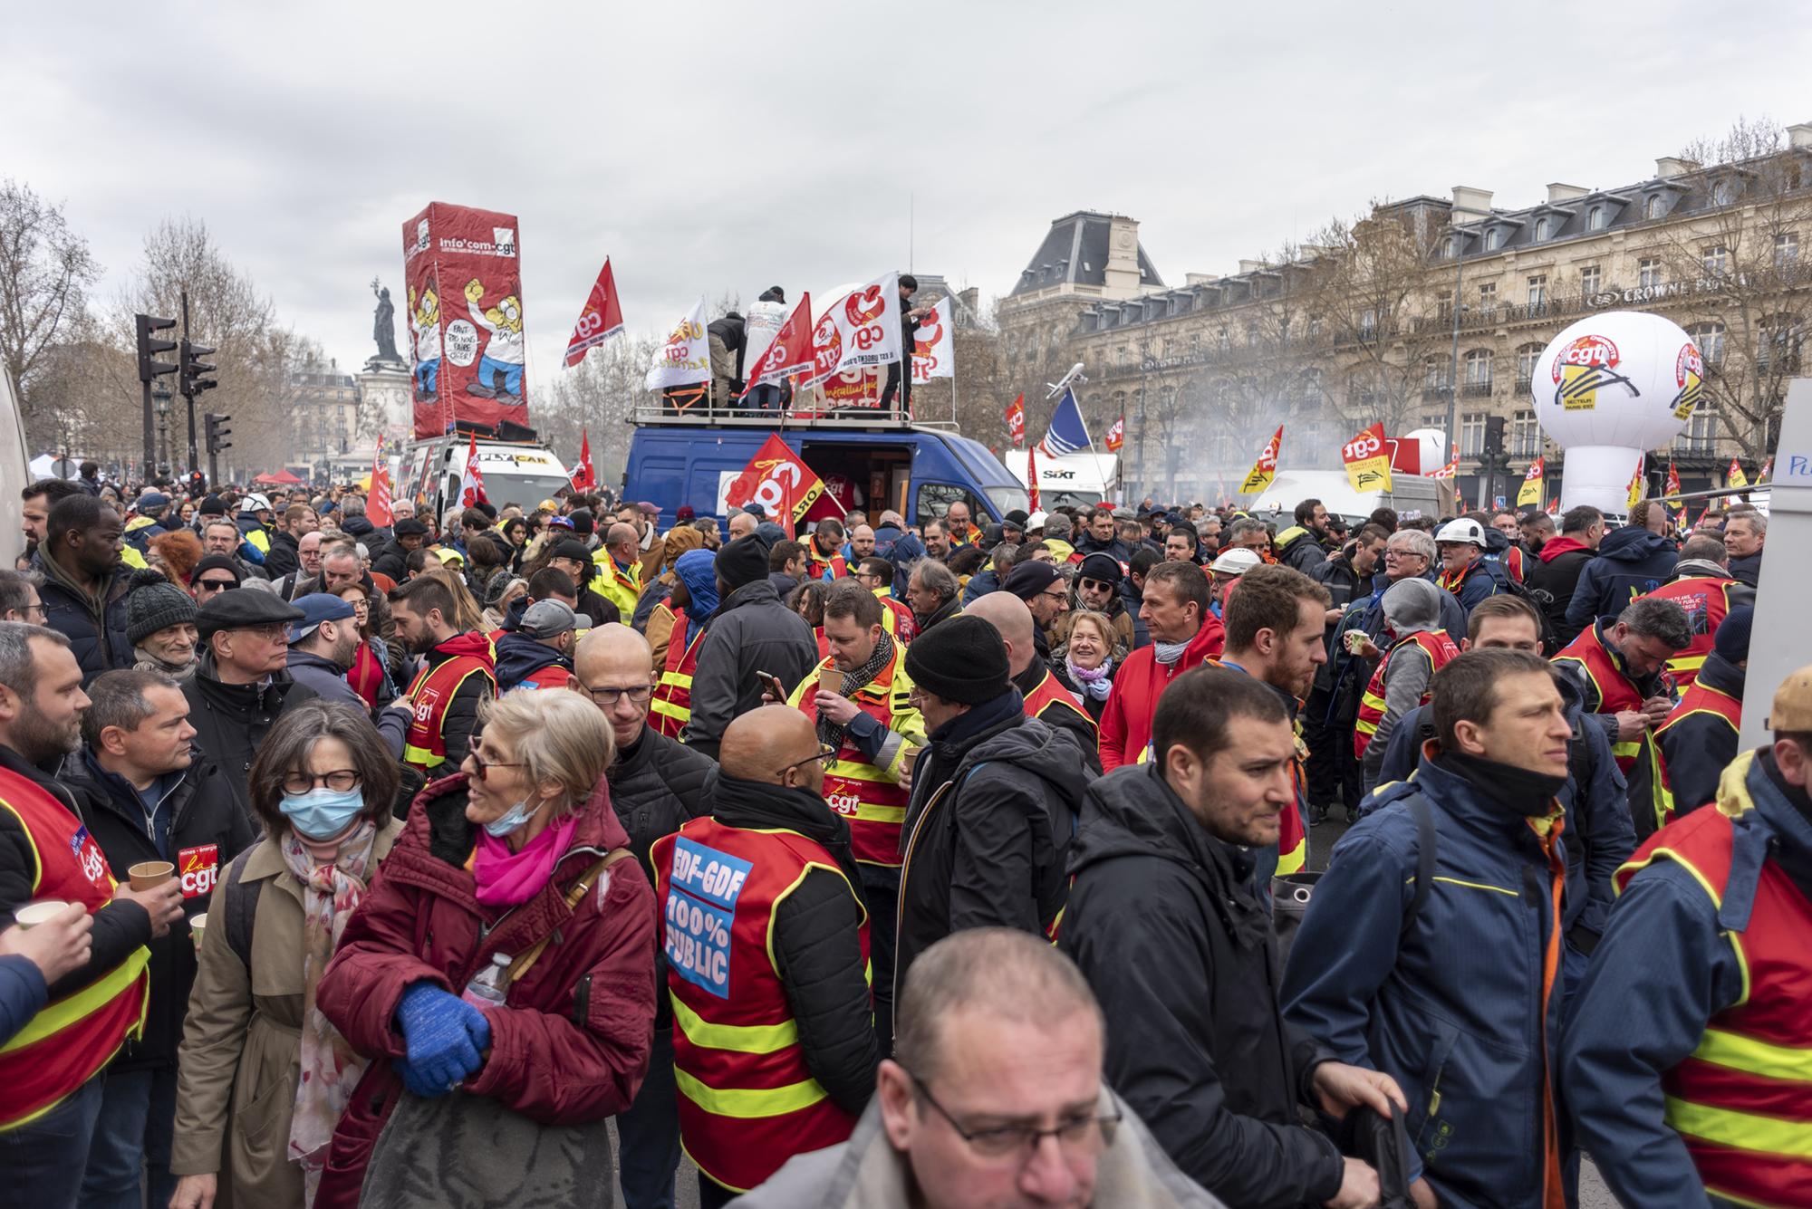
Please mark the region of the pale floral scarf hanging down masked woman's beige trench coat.
<svg viewBox="0 0 1812 1209"><path fill-rule="evenodd" d="M346 921L364 898L375 840L377 823L361 822L341 840L332 865L317 865L294 831L286 831L277 845L283 863L303 883L303 1077L295 1084L295 1117L290 1120L290 1162L303 1166L310 1205L328 1160L333 1126L368 1064L315 1006L315 986Z"/></svg>

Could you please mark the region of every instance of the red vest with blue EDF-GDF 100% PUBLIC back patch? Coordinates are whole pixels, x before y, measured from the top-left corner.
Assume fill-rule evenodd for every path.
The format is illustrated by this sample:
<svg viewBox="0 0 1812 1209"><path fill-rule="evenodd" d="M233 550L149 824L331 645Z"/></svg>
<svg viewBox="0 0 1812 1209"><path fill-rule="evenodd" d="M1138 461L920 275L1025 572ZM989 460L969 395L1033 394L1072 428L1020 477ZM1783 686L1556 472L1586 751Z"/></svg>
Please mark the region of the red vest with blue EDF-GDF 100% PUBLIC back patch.
<svg viewBox="0 0 1812 1209"><path fill-rule="evenodd" d="M799 833L714 818L656 840L652 860L674 1004L680 1140L699 1171L743 1193L855 1128L806 1066L770 947L776 909L810 871L844 874ZM850 894L861 905L855 887ZM868 976L866 910L861 945Z"/></svg>

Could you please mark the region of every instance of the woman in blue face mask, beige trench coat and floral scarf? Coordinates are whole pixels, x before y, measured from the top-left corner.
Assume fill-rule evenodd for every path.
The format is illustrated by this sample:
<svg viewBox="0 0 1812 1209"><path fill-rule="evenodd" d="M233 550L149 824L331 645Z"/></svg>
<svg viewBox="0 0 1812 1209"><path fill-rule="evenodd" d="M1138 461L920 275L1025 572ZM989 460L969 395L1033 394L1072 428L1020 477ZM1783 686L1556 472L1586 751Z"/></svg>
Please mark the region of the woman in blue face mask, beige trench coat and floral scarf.
<svg viewBox="0 0 1812 1209"><path fill-rule="evenodd" d="M265 838L221 871L178 1053L176 1209L304 1205L364 1070L315 992L379 862L397 764L355 708L284 711L252 762ZM304 1080L303 1075L308 1075ZM223 1175L225 1173L225 1175Z"/></svg>

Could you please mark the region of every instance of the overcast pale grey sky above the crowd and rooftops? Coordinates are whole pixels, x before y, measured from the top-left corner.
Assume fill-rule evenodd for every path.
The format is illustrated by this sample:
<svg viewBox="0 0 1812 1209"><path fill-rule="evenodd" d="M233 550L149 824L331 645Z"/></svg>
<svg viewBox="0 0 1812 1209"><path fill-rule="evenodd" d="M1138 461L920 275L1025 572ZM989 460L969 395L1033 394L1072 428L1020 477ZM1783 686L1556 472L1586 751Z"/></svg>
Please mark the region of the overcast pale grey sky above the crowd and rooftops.
<svg viewBox="0 0 1812 1209"><path fill-rule="evenodd" d="M355 367L373 275L406 347L402 223L506 210L531 405L605 255L636 331L906 268L910 210L913 266L984 297L1078 208L1181 284L1372 199L1531 205L1812 121L1812 9L1749 0L94 7L7 14L0 176L67 205L101 299L188 214Z"/></svg>

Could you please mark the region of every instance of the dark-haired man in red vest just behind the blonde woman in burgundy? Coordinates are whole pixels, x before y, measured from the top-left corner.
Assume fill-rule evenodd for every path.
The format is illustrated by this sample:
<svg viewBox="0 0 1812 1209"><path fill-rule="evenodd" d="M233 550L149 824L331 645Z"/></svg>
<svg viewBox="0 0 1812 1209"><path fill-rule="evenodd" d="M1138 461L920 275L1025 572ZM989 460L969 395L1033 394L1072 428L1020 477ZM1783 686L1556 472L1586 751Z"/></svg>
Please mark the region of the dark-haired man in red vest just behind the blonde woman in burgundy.
<svg viewBox="0 0 1812 1209"><path fill-rule="evenodd" d="M453 594L437 579L411 579L390 594L397 641L426 666L377 719L390 753L433 780L471 751L478 706L496 697L491 639L453 624Z"/></svg>

